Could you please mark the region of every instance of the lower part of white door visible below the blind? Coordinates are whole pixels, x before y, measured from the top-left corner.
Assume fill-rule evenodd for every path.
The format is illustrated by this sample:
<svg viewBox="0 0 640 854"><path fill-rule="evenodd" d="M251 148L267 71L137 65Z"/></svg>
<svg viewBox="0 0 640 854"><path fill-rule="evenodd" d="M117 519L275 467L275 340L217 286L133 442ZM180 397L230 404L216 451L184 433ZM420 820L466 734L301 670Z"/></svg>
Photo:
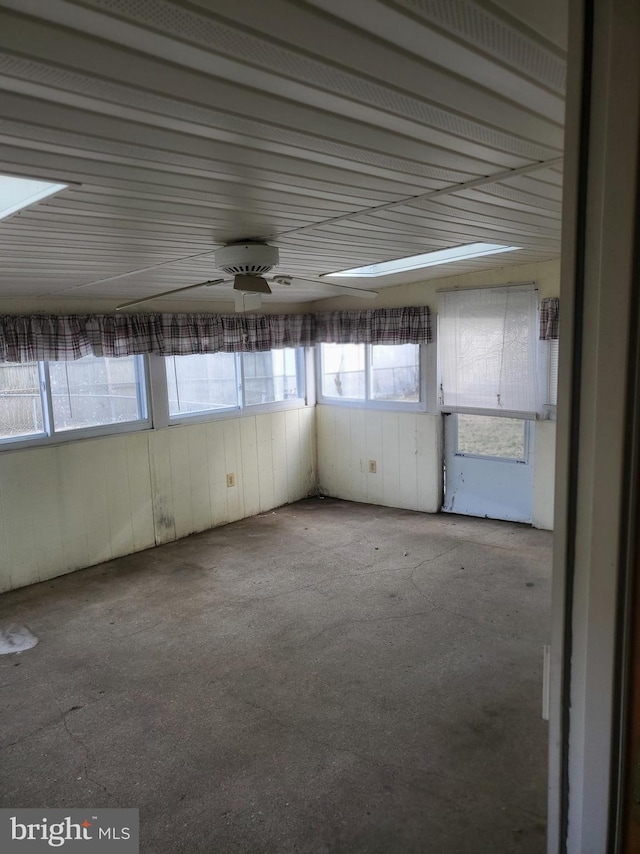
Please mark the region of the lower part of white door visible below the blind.
<svg viewBox="0 0 640 854"><path fill-rule="evenodd" d="M531 522L533 432L520 418L450 414L445 423L443 510Z"/></svg>

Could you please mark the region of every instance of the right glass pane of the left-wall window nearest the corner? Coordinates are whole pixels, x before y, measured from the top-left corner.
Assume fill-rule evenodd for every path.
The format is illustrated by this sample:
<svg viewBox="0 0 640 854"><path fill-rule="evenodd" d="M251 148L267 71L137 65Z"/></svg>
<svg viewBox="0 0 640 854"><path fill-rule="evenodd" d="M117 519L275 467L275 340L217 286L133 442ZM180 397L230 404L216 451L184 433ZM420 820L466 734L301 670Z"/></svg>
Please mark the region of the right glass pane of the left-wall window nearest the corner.
<svg viewBox="0 0 640 854"><path fill-rule="evenodd" d="M242 369L245 406L301 397L294 349L244 353Z"/></svg>

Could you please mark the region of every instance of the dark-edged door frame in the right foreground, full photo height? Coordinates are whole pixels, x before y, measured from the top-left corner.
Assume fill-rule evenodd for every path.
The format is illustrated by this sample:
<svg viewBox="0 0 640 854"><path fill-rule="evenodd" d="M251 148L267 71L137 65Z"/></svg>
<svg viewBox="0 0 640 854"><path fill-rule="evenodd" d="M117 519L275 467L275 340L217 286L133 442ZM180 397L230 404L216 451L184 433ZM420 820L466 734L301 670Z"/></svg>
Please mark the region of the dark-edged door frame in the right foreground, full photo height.
<svg viewBox="0 0 640 854"><path fill-rule="evenodd" d="M549 854L621 850L640 413L640 6L570 0Z"/></svg>

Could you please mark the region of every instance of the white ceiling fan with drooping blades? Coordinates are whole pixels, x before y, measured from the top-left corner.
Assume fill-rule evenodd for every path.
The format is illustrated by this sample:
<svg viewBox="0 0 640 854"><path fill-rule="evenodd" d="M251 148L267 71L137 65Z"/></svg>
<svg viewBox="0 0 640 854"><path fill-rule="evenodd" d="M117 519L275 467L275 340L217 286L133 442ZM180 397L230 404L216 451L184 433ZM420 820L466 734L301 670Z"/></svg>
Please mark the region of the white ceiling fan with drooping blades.
<svg viewBox="0 0 640 854"><path fill-rule="evenodd" d="M362 299L375 299L377 291L368 291L363 288L352 288L334 282L326 282L323 279L307 279L300 276L272 276L269 281L265 275L280 260L280 254L276 246L270 246L261 241L244 241L242 243L230 243L215 250L216 269L227 273L232 278L209 279L206 282L198 282L195 285L186 285L182 288L173 288L153 296L141 297L130 300L116 306L116 311L132 308L144 302L160 299L170 294L190 291L194 288L211 287L212 285L225 285L233 282L235 293L236 311L253 311L262 305L262 295L272 293L271 285L291 287L297 282L308 282L316 290L324 292L327 296L355 296Z"/></svg>

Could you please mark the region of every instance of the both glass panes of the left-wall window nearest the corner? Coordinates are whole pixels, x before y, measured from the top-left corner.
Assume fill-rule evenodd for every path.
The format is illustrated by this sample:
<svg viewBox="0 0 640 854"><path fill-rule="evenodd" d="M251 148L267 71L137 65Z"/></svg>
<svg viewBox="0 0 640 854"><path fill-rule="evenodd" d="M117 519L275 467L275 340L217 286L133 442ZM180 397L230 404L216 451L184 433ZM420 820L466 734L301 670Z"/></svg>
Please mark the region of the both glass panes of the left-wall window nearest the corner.
<svg viewBox="0 0 640 854"><path fill-rule="evenodd" d="M291 348L169 356L169 416L299 402L304 398L303 364L303 351Z"/></svg>

